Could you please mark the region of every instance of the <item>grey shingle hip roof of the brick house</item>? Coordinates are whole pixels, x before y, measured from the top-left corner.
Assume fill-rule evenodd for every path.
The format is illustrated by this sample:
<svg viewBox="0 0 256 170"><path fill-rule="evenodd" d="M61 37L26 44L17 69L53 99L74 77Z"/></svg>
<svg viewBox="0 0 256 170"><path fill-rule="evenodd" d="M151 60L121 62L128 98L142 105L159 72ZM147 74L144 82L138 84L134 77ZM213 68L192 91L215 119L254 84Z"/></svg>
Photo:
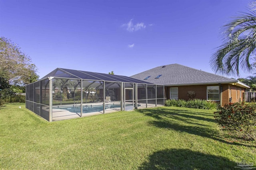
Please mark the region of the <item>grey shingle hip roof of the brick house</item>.
<svg viewBox="0 0 256 170"><path fill-rule="evenodd" d="M160 78L156 78L162 74ZM144 80L150 76L147 80ZM139 80L144 80L154 84L162 84L169 86L177 85L196 85L196 84L217 84L217 83L238 83L243 88L249 86L232 78L226 78L202 70L197 70L180 64L169 64L165 66L158 66L150 70L135 74L131 76Z"/></svg>

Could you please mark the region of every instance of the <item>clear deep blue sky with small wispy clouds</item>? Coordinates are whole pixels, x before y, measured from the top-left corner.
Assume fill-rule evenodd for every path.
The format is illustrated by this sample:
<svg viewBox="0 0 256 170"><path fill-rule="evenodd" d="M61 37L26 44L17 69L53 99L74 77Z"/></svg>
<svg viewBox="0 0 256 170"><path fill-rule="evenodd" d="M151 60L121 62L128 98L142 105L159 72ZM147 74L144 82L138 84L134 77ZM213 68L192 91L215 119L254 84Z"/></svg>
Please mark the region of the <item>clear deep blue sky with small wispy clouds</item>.
<svg viewBox="0 0 256 170"><path fill-rule="evenodd" d="M55 68L132 76L174 63L213 73L220 27L249 2L0 0L0 36L31 57L40 78Z"/></svg>

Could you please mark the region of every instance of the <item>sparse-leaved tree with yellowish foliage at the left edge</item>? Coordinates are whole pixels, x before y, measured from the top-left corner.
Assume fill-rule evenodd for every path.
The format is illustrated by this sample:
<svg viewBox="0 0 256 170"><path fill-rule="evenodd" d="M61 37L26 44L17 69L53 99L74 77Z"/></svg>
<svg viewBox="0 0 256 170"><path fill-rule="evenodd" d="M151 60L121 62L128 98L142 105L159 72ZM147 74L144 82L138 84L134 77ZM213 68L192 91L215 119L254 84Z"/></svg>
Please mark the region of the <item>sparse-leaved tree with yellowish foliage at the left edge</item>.
<svg viewBox="0 0 256 170"><path fill-rule="evenodd" d="M10 39L0 37L0 78L23 86L38 80L37 68L30 57Z"/></svg>

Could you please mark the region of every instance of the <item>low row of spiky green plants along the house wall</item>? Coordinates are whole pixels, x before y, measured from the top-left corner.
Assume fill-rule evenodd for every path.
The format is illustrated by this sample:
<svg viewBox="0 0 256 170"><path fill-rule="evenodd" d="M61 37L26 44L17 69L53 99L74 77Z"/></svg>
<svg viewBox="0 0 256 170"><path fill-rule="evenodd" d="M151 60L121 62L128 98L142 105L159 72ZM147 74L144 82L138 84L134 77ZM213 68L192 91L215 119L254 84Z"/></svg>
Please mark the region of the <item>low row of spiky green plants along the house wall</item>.
<svg viewBox="0 0 256 170"><path fill-rule="evenodd" d="M176 106L176 107L188 107L196 109L218 109L219 104L216 102L211 102L201 99L192 99L192 100L166 100L165 106Z"/></svg>

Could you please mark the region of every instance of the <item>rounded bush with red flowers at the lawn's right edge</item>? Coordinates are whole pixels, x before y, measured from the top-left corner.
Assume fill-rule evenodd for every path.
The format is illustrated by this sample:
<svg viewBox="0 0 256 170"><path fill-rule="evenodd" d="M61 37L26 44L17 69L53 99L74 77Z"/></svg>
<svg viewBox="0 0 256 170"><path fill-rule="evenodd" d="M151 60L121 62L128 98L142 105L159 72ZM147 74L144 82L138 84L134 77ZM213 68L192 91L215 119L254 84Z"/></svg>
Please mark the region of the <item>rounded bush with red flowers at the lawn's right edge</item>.
<svg viewBox="0 0 256 170"><path fill-rule="evenodd" d="M215 111L218 124L228 131L234 131L236 137L247 137L256 141L256 104L234 103Z"/></svg>

